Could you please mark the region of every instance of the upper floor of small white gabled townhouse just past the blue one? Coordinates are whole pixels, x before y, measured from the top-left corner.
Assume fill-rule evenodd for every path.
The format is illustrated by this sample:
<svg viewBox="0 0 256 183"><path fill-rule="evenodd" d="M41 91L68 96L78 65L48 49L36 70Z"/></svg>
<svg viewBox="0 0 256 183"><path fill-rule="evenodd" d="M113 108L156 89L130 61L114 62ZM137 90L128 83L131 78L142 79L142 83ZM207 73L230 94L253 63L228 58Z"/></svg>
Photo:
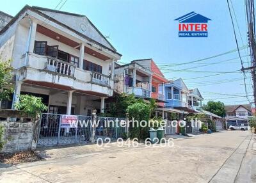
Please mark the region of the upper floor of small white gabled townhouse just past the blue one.
<svg viewBox="0 0 256 183"><path fill-rule="evenodd" d="M204 100L204 98L202 97L198 88L189 90L189 93L188 93L189 108L191 108L195 111L200 111L200 108L202 107L202 100Z"/></svg>

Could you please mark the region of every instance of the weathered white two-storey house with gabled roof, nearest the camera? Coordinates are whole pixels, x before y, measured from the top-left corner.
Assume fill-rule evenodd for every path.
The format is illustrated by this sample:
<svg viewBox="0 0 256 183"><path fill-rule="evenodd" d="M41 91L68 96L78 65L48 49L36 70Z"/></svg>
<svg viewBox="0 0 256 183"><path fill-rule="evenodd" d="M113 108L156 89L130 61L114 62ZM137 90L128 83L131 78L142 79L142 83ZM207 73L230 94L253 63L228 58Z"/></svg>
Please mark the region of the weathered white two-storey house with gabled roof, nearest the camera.
<svg viewBox="0 0 256 183"><path fill-rule="evenodd" d="M113 95L122 56L84 15L25 6L0 31L2 60L12 60L14 107L20 93L43 98L48 113L91 115Z"/></svg>

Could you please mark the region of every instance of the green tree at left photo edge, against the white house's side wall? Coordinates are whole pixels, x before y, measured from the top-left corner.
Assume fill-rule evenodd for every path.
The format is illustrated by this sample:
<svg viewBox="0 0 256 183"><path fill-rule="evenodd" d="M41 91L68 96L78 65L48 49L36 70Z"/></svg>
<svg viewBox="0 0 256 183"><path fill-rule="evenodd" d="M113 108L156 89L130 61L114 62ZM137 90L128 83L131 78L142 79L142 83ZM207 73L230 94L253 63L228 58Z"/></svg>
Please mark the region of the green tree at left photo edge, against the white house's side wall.
<svg viewBox="0 0 256 183"><path fill-rule="evenodd" d="M12 70L10 61L0 61L0 100L10 100L13 93Z"/></svg>

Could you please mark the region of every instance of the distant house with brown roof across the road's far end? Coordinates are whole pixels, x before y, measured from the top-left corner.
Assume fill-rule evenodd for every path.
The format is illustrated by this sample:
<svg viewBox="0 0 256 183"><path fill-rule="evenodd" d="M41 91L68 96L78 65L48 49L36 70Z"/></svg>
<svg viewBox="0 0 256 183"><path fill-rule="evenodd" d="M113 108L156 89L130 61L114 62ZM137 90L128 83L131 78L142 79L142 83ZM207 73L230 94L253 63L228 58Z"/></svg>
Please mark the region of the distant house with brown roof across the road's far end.
<svg viewBox="0 0 256 183"><path fill-rule="evenodd" d="M229 105L225 106L226 126L230 125L248 125L252 117L252 107L250 104Z"/></svg>

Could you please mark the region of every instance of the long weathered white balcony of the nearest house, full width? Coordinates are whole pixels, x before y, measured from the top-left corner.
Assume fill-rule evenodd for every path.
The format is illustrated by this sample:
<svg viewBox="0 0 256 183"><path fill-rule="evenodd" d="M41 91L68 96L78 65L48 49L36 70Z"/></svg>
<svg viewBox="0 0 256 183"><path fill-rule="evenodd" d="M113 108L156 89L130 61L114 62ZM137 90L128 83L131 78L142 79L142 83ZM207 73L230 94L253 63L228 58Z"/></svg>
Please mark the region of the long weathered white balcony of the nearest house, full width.
<svg viewBox="0 0 256 183"><path fill-rule="evenodd" d="M28 73L31 73L31 78L27 78L29 80L42 80L51 83L54 81L56 83L57 78L58 84L68 86L72 86L74 81L77 84L79 83L79 85L83 83L92 83L107 87L113 85L113 81L107 75L77 68L72 63L59 60L58 58L52 58L51 56L29 53L27 67ZM46 73L43 74L44 72ZM56 74L59 77L56 77ZM76 88L77 86L74 87Z"/></svg>

